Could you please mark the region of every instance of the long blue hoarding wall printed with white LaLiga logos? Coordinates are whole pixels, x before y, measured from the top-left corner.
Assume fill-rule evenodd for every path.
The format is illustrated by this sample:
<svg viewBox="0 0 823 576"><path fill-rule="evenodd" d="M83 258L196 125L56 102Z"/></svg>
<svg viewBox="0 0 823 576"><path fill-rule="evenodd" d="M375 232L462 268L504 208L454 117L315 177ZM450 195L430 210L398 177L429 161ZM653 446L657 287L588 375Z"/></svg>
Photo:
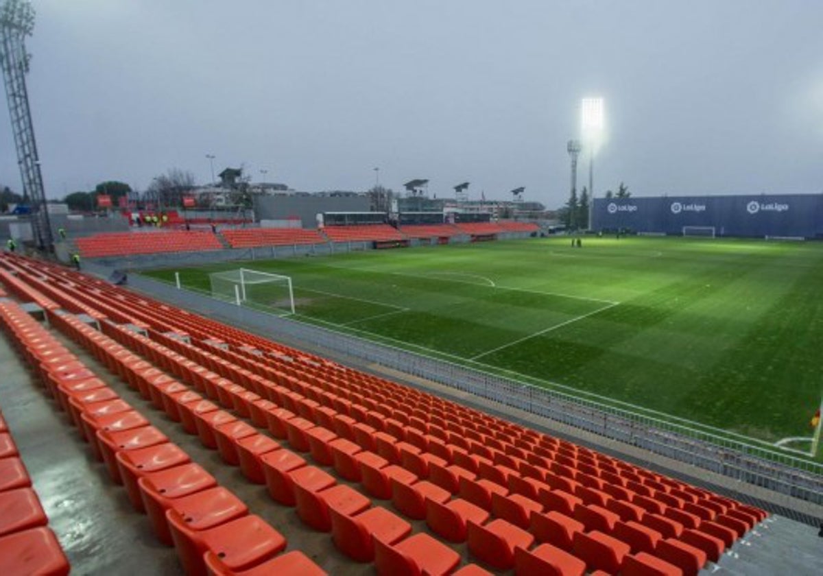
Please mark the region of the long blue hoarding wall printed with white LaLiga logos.
<svg viewBox="0 0 823 576"><path fill-rule="evenodd" d="M718 236L823 238L823 194L595 198L593 223L667 235L713 226Z"/></svg>

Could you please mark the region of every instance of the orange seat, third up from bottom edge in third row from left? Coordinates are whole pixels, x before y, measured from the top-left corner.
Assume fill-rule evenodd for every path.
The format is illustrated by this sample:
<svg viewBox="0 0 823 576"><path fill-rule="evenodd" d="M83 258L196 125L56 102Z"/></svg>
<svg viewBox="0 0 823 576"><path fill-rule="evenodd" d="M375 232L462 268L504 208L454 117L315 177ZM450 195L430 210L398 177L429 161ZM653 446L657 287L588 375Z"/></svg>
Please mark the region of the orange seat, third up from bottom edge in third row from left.
<svg viewBox="0 0 823 576"><path fill-rule="evenodd" d="M382 506L353 516L338 512L335 508L331 508L330 513L334 545L358 562L374 560L374 540L392 545L412 532L411 524Z"/></svg>

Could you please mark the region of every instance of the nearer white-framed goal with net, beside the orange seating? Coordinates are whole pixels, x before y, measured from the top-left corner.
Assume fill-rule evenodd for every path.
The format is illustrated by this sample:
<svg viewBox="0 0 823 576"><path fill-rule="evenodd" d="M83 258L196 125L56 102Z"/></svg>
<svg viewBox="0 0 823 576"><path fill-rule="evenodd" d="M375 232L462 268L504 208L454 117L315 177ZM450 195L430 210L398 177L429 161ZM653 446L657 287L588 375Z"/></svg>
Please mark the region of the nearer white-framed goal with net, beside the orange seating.
<svg viewBox="0 0 823 576"><path fill-rule="evenodd" d="M257 304L295 314L295 295L290 276L238 268L212 272L208 278L213 298L234 302L238 306Z"/></svg>

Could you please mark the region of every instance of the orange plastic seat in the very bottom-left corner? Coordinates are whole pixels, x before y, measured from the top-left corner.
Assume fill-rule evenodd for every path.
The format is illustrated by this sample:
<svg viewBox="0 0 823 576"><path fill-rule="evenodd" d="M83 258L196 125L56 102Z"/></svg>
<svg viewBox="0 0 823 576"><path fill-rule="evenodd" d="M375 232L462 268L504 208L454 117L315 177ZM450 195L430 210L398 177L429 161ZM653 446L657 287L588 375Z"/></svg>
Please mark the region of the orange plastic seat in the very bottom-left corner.
<svg viewBox="0 0 823 576"><path fill-rule="evenodd" d="M63 548L47 527L0 537L0 574L63 576L69 564Z"/></svg>

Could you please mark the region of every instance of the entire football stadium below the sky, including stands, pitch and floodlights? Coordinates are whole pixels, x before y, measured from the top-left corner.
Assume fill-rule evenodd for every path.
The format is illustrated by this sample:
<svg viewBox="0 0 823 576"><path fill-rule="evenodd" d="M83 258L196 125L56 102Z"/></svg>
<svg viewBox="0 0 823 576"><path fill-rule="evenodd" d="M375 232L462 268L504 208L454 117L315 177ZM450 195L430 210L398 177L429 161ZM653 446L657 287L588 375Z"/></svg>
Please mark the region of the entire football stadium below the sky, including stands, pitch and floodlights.
<svg viewBox="0 0 823 576"><path fill-rule="evenodd" d="M60 201L34 22L2 3L0 574L823 571L823 194L578 196L598 98L557 210L212 154Z"/></svg>

